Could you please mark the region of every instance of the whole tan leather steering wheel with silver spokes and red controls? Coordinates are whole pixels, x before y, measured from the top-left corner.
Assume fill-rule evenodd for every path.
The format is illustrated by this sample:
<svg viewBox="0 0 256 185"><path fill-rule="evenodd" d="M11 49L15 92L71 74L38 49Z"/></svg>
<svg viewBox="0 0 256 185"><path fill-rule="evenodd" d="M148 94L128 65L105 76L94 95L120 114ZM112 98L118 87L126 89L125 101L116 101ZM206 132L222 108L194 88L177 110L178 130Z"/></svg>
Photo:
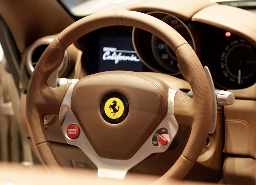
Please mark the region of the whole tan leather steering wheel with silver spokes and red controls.
<svg viewBox="0 0 256 185"><path fill-rule="evenodd" d="M100 72L56 88L47 85L69 45L91 31L117 25L144 29L166 42L177 55L193 98L160 79L129 71ZM191 134L183 153L160 178L183 179L204 146L212 109L206 74L186 40L153 16L118 10L76 21L47 47L29 82L26 113L32 143L45 166L62 166L43 122L45 115L57 114L66 142L84 151L98 176L120 179L150 154L166 151L178 127L188 125Z"/></svg>

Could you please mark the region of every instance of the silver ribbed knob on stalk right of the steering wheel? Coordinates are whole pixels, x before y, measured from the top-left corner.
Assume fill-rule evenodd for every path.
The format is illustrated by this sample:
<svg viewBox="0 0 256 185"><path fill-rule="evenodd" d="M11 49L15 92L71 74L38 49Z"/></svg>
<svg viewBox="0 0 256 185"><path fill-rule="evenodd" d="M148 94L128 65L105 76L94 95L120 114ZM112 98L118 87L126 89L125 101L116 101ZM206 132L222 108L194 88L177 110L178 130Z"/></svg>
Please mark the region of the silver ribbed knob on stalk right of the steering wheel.
<svg viewBox="0 0 256 185"><path fill-rule="evenodd" d="M235 95L225 90L215 91L217 103L220 106L232 105L235 101Z"/></svg>

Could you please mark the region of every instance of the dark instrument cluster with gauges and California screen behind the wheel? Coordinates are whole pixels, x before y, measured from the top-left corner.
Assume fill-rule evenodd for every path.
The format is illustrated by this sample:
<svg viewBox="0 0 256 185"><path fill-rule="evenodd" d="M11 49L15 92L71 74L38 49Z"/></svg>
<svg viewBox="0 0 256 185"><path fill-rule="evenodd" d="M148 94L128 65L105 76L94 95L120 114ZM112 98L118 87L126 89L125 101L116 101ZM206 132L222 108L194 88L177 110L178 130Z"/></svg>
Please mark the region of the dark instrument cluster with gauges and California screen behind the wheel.
<svg viewBox="0 0 256 185"><path fill-rule="evenodd" d="M256 82L256 48L229 31L185 21L161 12L149 12L180 33L208 66L216 88L239 89ZM133 27L112 26L92 32L82 66L89 74L113 71L154 71L183 78L172 49L155 35Z"/></svg>

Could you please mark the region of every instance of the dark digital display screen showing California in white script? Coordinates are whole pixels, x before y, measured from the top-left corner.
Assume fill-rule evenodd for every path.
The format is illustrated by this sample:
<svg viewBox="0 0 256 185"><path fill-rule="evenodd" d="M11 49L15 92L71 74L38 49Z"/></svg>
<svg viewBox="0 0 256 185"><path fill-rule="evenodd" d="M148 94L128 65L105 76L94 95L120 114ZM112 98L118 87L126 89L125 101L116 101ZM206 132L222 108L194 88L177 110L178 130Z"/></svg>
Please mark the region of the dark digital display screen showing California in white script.
<svg viewBox="0 0 256 185"><path fill-rule="evenodd" d="M100 37L98 71L143 71L130 37Z"/></svg>

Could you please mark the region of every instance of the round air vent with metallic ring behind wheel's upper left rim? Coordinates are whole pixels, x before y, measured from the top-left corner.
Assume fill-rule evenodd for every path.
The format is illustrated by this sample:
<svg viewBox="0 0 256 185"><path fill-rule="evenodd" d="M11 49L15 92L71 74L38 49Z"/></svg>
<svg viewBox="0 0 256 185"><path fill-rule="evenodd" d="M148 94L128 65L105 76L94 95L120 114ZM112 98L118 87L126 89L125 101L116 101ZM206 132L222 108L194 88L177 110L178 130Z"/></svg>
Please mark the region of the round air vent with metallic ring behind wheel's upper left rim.
<svg viewBox="0 0 256 185"><path fill-rule="evenodd" d="M34 68L41 57L44 50L48 47L48 45L54 40L54 37L42 37L41 39L36 40L28 49L27 53L27 60L26 60L26 69L29 75L32 74ZM59 68L59 76L62 76L67 67L69 62L68 51L65 51L64 58L62 64Z"/></svg>

